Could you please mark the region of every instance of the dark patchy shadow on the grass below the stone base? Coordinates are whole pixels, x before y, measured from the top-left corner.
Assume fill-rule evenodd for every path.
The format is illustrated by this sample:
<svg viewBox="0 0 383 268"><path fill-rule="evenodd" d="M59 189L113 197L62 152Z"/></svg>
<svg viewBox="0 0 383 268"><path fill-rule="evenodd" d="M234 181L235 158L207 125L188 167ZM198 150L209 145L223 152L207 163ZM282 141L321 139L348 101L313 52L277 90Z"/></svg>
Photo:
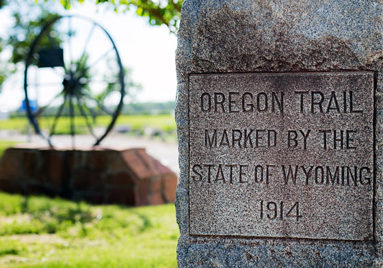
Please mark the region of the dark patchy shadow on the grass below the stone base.
<svg viewBox="0 0 383 268"><path fill-rule="evenodd" d="M140 209L122 205L91 205L43 196L19 196L19 206L10 210L9 224L1 224L0 235L55 234L77 230L78 237L87 237L98 230L140 233L154 228L152 219ZM1 210L1 204L0 204Z"/></svg>

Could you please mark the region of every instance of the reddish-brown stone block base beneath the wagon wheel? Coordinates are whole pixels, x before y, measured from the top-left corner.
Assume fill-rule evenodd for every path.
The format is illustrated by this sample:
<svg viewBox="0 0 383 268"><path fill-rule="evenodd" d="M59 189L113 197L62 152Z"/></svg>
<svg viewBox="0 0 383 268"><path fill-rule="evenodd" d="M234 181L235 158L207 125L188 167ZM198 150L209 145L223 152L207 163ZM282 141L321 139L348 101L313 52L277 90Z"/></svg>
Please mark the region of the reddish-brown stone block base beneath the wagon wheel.
<svg viewBox="0 0 383 268"><path fill-rule="evenodd" d="M176 174L141 148L10 148L0 160L0 190L12 193L143 206L174 202L176 183Z"/></svg>

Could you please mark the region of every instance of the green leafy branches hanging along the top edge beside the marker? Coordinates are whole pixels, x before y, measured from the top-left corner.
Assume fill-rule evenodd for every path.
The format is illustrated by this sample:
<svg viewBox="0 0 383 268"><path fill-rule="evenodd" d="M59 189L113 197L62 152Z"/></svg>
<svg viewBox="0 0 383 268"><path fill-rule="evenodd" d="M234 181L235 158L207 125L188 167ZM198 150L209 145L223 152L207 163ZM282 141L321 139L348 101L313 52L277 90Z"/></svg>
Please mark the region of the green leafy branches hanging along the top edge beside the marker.
<svg viewBox="0 0 383 268"><path fill-rule="evenodd" d="M54 1L54 0L44 0ZM84 0L60 0L64 8L70 9L74 2L83 3ZM179 27L183 0L92 0L96 4L107 4L116 12L126 12L135 8L138 16L148 18L150 25L166 25L170 32L176 34Z"/></svg>

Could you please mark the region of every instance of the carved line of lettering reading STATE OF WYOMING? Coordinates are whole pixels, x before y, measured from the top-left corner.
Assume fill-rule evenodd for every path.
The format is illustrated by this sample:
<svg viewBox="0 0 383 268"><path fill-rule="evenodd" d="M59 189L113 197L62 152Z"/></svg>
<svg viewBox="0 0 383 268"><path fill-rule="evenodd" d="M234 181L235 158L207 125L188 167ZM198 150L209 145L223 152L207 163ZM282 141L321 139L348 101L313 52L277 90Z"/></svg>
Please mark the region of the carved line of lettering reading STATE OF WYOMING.
<svg viewBox="0 0 383 268"><path fill-rule="evenodd" d="M323 187L365 187L371 185L371 170L369 166L356 165L198 163L192 165L190 176L196 183L228 182L233 186L241 183L266 186L282 183L283 185L321 185Z"/></svg>

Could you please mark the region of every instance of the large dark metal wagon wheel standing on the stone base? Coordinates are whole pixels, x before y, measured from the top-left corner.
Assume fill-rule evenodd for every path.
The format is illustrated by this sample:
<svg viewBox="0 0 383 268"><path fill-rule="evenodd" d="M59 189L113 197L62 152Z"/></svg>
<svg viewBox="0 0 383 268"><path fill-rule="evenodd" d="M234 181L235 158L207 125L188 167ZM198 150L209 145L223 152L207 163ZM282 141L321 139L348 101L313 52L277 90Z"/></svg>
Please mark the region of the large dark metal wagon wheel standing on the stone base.
<svg viewBox="0 0 383 268"><path fill-rule="evenodd" d="M82 133L92 135L90 145L96 146L122 109L124 69L116 44L95 21L57 16L31 44L24 90L29 122L50 146L63 132L57 129L61 121L69 129L73 147L75 135ZM39 107L32 105L33 98Z"/></svg>

